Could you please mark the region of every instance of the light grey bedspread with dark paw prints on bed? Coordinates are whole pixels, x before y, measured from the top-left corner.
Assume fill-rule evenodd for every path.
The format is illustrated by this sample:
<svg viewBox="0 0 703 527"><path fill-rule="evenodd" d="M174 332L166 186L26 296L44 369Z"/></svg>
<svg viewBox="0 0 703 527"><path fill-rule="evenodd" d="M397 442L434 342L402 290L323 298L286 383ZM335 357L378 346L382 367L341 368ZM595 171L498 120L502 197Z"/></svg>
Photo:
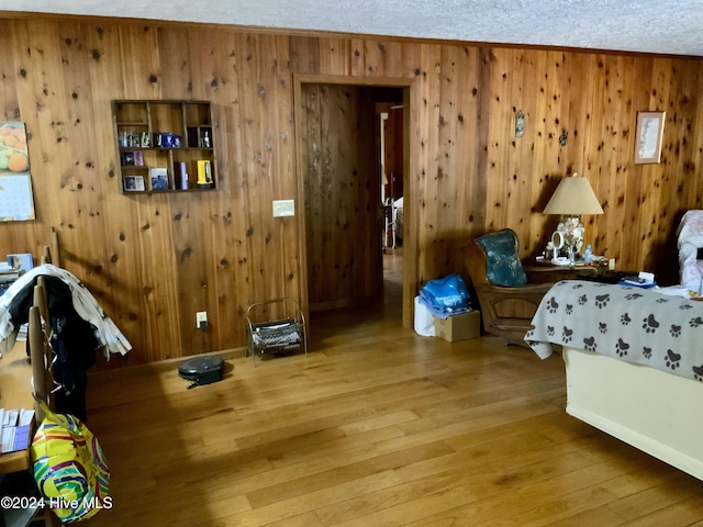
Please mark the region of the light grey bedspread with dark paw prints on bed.
<svg viewBox="0 0 703 527"><path fill-rule="evenodd" d="M539 304L525 341L543 359L558 344L703 382L703 302L652 290L558 282Z"/></svg>

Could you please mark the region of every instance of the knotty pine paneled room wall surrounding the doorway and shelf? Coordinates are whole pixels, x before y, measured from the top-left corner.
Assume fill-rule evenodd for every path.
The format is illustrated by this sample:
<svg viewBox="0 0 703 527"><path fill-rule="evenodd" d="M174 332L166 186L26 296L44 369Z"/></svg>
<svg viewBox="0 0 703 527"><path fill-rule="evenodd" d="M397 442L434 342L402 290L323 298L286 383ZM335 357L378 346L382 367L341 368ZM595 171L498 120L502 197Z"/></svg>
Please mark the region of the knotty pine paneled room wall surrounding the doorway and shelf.
<svg viewBox="0 0 703 527"><path fill-rule="evenodd" d="M584 218L595 251L660 281L677 280L678 218L701 206L698 58L114 20L11 18L2 26L0 109L31 134L37 220L0 225L0 248L38 257L56 227L64 266L134 345L111 365L241 347L250 303L306 300L301 215L271 214L271 201L299 198L305 178L295 165L294 74L410 82L410 298L424 281L462 271L459 247L486 231L511 226L524 256L536 253L556 226L542 208L572 171L605 211ZM131 98L212 101L215 192L120 192L110 101ZM657 110L667 112L662 161L634 165L636 113ZM526 116L522 138L516 111ZM209 313L207 333L196 329L197 311Z"/></svg>

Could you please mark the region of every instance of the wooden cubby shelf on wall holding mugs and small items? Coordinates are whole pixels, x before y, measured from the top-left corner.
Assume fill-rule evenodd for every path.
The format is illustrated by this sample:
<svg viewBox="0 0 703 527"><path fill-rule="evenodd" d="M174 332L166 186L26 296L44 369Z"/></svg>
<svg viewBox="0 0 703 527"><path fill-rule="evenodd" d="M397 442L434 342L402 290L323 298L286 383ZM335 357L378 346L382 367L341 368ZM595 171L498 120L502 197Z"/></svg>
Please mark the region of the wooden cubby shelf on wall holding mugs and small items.
<svg viewBox="0 0 703 527"><path fill-rule="evenodd" d="M216 188L210 102L115 100L112 120L123 193L201 192ZM201 187L202 183L211 187Z"/></svg>

